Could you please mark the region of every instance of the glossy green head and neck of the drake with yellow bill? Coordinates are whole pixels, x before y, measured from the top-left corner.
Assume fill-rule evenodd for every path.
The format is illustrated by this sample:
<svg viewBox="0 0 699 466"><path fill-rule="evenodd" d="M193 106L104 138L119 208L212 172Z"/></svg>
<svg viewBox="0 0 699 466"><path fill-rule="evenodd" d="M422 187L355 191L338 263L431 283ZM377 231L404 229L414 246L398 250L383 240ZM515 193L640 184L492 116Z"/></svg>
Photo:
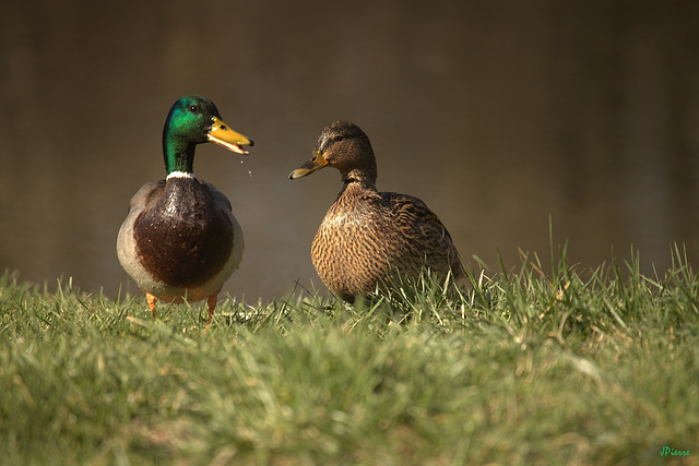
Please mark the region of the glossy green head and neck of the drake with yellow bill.
<svg viewBox="0 0 699 466"><path fill-rule="evenodd" d="M223 121L213 101L199 95L179 98L170 108L163 130L165 169L192 172L194 147L212 142L238 154L248 154L244 145L251 146L251 139L234 131Z"/></svg>

